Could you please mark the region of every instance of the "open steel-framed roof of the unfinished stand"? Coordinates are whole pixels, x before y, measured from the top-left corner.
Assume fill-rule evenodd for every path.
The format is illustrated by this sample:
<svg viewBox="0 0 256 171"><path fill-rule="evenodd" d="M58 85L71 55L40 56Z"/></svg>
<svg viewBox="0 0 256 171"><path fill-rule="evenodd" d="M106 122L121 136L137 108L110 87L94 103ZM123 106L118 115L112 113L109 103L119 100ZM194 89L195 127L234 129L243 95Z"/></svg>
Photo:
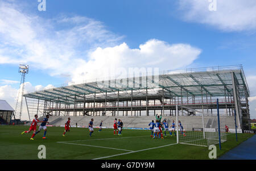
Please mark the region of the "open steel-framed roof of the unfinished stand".
<svg viewBox="0 0 256 171"><path fill-rule="evenodd" d="M116 78L106 80L105 83L104 80L101 80L77 85L54 87L53 89L28 93L25 94L24 97L73 104L75 101L83 99L84 95L86 95L86 97L93 97L94 93L101 94L102 97L105 96L106 92L108 92L108 95L117 95L118 90L130 93L131 89L133 89L145 93L144 90L146 88L142 85L146 84L147 89L154 90L148 94L152 92L154 94L158 92L158 90L164 90L172 97L199 97L201 95L221 97L226 94L233 94L232 73L235 74L238 85L240 86L240 97L245 97L245 93L249 96L250 92L242 65L234 65L161 72L159 73L158 81L154 81L155 77L152 76L141 76ZM147 83L143 81L146 80L143 78L147 79ZM129 86L129 81L133 82L133 87ZM127 94L125 95L126 97ZM121 96L122 94L119 98L121 98Z"/></svg>

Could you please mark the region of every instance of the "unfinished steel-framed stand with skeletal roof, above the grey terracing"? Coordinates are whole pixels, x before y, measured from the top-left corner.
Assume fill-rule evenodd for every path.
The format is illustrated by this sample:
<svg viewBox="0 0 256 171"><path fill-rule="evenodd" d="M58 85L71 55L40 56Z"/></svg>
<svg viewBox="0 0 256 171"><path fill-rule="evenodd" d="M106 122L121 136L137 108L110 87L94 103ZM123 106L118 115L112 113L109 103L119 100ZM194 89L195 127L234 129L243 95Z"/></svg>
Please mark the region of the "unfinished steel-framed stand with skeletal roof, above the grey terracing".
<svg viewBox="0 0 256 171"><path fill-rule="evenodd" d="M240 128L250 127L250 95L242 65L171 70L154 75L113 78L55 87L25 94L28 115L149 116L176 115L176 105L210 116L234 116ZM187 108L182 115L196 113Z"/></svg>

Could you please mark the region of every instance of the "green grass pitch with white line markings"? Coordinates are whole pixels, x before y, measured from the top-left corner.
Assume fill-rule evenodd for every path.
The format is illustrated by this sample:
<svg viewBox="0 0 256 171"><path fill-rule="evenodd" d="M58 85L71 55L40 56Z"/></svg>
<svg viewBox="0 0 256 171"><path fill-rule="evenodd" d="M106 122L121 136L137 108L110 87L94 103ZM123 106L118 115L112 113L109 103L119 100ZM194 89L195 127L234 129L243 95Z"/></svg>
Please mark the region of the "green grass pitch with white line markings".
<svg viewBox="0 0 256 171"><path fill-rule="evenodd" d="M145 130L123 130L122 136L113 135L113 130L94 128L92 137L88 128L71 128L63 137L63 127L47 127L47 139L42 139L43 130L30 140L25 126L0 126L0 159L38 159L38 146L46 146L46 158L56 160L170 160L170 159L209 159L209 149L195 145L176 144L175 136L152 139L151 132ZM188 132L189 134L189 132ZM167 134L168 135L168 134ZM217 156L223 155L249 137L250 134L227 135L222 150L217 147ZM159 147L159 148L156 148ZM158 155L155 155L158 154Z"/></svg>

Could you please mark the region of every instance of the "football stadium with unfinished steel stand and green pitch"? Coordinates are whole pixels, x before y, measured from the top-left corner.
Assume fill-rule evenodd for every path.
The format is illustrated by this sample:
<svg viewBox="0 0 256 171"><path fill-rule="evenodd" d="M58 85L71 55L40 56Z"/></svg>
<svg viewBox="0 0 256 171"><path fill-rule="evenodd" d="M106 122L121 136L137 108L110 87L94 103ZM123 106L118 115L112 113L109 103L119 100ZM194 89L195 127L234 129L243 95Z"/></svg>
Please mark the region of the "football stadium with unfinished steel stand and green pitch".
<svg viewBox="0 0 256 171"><path fill-rule="evenodd" d="M159 159L209 159L211 145L221 156L253 135L243 134L250 130L249 95L242 65L97 79L27 93L28 122L15 126L10 106L1 113L4 122L14 119L14 126L1 128L1 143L9 147L1 158L26 159L26 151L27 159L38 159L31 149L40 144L49 149L47 159L150 159L154 150L166 153ZM35 136L30 131L37 119L48 122L45 128L35 126ZM18 148L26 150L16 155Z"/></svg>

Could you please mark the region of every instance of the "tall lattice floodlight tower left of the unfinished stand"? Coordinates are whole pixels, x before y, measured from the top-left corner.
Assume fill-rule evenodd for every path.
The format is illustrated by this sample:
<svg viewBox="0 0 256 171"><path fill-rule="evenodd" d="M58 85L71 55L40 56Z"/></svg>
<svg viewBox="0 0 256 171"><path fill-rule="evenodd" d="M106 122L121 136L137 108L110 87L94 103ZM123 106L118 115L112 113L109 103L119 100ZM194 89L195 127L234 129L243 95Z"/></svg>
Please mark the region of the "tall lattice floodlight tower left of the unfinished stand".
<svg viewBox="0 0 256 171"><path fill-rule="evenodd" d="M19 119L20 119L21 115L22 115L22 102L23 102L23 93L24 93L24 82L25 82L25 76L26 76L26 74L28 74L28 65L20 64L19 65L19 73L22 74L22 78L20 80L19 93L18 93L18 98L17 98L17 102L16 102L16 107L15 107L15 116L19 114ZM20 98L20 103L19 103L19 98Z"/></svg>

